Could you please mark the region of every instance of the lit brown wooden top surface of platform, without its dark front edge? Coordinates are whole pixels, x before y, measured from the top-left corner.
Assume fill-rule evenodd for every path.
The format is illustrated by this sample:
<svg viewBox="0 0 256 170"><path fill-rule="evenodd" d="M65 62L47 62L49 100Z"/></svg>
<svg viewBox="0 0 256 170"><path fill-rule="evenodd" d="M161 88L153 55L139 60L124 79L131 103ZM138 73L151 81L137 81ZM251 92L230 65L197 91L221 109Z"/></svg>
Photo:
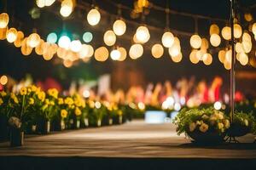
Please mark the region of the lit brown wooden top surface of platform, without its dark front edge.
<svg viewBox="0 0 256 170"><path fill-rule="evenodd" d="M124 157L124 158L256 158L253 135L240 144L198 146L177 136L172 123L149 125L133 121L112 127L87 128L29 136L22 147L0 143L0 156Z"/></svg>

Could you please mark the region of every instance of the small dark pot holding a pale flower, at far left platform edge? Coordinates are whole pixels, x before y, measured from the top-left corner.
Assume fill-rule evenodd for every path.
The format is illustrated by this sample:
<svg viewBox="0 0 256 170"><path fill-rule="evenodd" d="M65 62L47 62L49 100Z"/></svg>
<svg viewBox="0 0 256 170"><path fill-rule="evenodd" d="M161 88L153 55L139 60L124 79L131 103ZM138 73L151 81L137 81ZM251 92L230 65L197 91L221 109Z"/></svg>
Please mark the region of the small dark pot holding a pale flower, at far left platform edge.
<svg viewBox="0 0 256 170"><path fill-rule="evenodd" d="M24 143L24 132L19 128L10 128L9 141L11 147L21 146Z"/></svg>

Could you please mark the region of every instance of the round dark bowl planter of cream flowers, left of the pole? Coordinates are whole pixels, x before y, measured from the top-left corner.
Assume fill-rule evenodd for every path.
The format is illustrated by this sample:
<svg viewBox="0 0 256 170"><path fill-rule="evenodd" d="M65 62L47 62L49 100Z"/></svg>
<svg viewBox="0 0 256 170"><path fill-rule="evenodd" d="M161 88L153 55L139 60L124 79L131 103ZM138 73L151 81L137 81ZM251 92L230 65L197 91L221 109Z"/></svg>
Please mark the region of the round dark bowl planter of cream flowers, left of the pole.
<svg viewBox="0 0 256 170"><path fill-rule="evenodd" d="M174 123L177 134L185 133L192 141L203 144L224 142L226 131L230 127L229 117L212 107L187 109L180 111Z"/></svg>

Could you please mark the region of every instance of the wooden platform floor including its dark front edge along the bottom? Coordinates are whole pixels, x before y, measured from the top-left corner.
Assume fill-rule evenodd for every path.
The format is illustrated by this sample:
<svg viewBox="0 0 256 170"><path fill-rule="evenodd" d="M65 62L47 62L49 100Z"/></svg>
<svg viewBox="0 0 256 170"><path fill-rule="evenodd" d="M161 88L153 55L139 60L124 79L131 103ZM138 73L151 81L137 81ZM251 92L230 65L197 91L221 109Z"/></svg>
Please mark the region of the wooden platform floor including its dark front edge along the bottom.
<svg viewBox="0 0 256 170"><path fill-rule="evenodd" d="M26 169L44 169L51 162L53 167L61 169L73 166L82 169L131 169L129 165L158 169L169 167L170 163L170 169L189 165L206 165L207 169L221 169L218 165L256 169L253 138L253 135L247 135L239 139L241 144L198 146L191 144L184 136L177 136L171 123L148 125L136 121L122 126L29 137L20 148L10 148L7 142L0 143L0 166L7 169L15 165L25 166Z"/></svg>

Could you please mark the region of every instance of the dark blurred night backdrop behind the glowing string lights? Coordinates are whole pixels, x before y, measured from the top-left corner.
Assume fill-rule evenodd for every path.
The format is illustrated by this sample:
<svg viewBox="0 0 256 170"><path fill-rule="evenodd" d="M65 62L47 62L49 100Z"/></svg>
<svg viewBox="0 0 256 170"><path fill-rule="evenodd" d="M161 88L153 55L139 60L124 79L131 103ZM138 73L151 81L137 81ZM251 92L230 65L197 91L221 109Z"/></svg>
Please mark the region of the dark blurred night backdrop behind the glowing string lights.
<svg viewBox="0 0 256 170"><path fill-rule="evenodd" d="M133 8L132 0L102 0L94 1L99 8L103 10L102 19L100 23L93 27L86 21L86 14L90 10L91 1L79 0L84 8L75 8L70 17L63 20L59 14L60 3L56 1L51 7L40 8L40 18L32 20L29 11L36 8L35 1L30 0L1 0L1 11L7 7L7 12L10 16L9 27L15 28L25 32L28 36L32 32L32 28L37 28L41 37L46 39L51 31L55 31L58 35L61 31L67 31L72 37L82 35L84 31L91 31L94 39L90 43L95 49L104 46L102 37L104 31L111 29L113 21L116 19L111 14L117 14L118 8L115 4L121 3L126 7ZM163 8L166 7L166 0L149 0L149 2L157 4ZM220 28L228 23L230 17L230 1L229 0L170 0L169 7L177 12L184 12L189 14L200 14L217 18L226 21L205 20L198 19L198 32L201 37L209 39L208 29L212 23L217 23ZM238 19L241 20L242 26L247 29L249 23L244 22L243 14L251 12L255 18L255 0L238 1ZM5 9L4 9L5 8ZM43 80L46 77L55 77L64 86L68 86L70 81L84 79L95 79L101 74L110 73L113 77L112 86L116 88L129 88L131 85L145 85L148 82L165 82L171 80L177 81L181 77L195 76L197 80L207 79L208 82L215 76L224 78L225 87L229 86L229 71L224 69L218 61L218 48L211 48L213 62L212 65L192 64L189 61L189 53L191 48L189 46L189 36L195 33L195 18L190 16L183 16L180 14L170 14L170 27L173 32L181 31L187 35L175 34L181 40L181 47L183 52L183 60L180 63L173 63L169 57L167 50L164 56L160 59L154 59L151 55L150 48L154 42L160 42L160 38L166 27L166 14L162 11L149 9L150 12L146 15L145 23L148 26L154 26L158 29L149 31L151 37L149 42L143 45L143 57L137 60L131 60L129 57L124 62L116 62L108 59L106 62L100 63L95 59L91 59L89 63L80 61L72 68L65 68L60 64L60 60L53 59L52 61L44 61L42 56L38 56L32 52L29 56L20 54L20 48L15 48L14 44L7 41L0 41L0 75L7 74L17 80L30 73L34 80ZM108 12L108 14L105 14ZM141 19L131 19L131 10L122 9L122 16L125 20L135 21L137 25L127 24L127 32L125 36L118 37L117 44L126 48L127 52L131 46L131 35L136 31L137 26L141 23ZM224 47L226 42L222 42L221 47ZM254 46L255 41L253 40ZM111 48L108 48L111 50ZM253 47L250 57L255 58L255 47ZM236 71L245 71L246 73L254 73L255 69L251 65L241 66L236 64ZM247 82L249 81L249 82ZM246 82L246 83L245 83ZM254 89L253 83L255 80L245 80L243 78L237 79L237 88Z"/></svg>

